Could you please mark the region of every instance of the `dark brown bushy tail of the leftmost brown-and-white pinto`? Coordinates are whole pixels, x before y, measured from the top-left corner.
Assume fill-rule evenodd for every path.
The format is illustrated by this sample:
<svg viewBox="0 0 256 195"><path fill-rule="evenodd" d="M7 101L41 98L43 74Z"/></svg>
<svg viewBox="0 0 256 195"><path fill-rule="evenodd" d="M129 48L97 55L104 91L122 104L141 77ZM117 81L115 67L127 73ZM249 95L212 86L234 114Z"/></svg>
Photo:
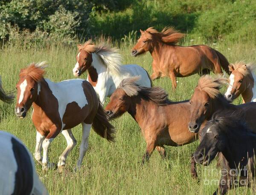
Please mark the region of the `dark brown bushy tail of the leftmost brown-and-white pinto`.
<svg viewBox="0 0 256 195"><path fill-rule="evenodd" d="M103 109L102 103L99 101L99 107L96 116L93 119L93 130L101 137L106 138L108 141L114 141L115 129L112 124L108 122L108 115Z"/></svg>

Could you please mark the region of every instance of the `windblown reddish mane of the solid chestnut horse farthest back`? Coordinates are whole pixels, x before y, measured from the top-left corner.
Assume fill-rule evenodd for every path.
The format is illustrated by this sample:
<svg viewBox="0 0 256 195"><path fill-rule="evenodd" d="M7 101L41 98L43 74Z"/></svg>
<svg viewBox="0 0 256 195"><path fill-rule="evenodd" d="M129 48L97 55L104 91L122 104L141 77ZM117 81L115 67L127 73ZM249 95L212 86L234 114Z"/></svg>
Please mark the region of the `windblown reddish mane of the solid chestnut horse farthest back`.
<svg viewBox="0 0 256 195"><path fill-rule="evenodd" d="M185 36L185 34L180 33L173 27L165 27L161 32L158 32L153 27L150 27L145 30L145 33L148 39L151 40L153 36L157 36L162 42L169 45L175 45L181 38Z"/></svg>

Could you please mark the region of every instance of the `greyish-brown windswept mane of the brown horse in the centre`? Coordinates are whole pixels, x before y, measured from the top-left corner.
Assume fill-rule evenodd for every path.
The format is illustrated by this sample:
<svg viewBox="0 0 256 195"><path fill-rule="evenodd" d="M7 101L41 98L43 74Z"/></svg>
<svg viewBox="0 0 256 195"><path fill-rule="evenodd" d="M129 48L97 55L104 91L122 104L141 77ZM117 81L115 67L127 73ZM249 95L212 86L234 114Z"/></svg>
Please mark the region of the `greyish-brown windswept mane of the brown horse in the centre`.
<svg viewBox="0 0 256 195"><path fill-rule="evenodd" d="M159 106L167 105L171 102L164 89L160 87L141 87L136 83L138 80L140 80L140 76L125 78L120 82L118 88L124 90L128 96L141 95L144 99L151 100Z"/></svg>

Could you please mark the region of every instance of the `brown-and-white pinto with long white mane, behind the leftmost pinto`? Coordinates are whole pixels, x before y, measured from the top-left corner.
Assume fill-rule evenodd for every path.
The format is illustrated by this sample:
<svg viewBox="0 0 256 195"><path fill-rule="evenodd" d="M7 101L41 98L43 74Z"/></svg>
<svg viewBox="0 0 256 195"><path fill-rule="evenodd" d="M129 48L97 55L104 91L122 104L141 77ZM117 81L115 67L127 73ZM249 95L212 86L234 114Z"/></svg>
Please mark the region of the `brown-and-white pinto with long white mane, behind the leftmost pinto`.
<svg viewBox="0 0 256 195"><path fill-rule="evenodd" d="M111 96L122 79L140 75L142 79L138 85L151 87L151 79L147 71L138 65L121 65L121 55L115 48L107 45L94 45L88 40L84 45L78 45L79 53L76 56L76 65L73 68L74 76L80 76L88 70L89 81L99 99L104 104L105 98Z"/></svg>

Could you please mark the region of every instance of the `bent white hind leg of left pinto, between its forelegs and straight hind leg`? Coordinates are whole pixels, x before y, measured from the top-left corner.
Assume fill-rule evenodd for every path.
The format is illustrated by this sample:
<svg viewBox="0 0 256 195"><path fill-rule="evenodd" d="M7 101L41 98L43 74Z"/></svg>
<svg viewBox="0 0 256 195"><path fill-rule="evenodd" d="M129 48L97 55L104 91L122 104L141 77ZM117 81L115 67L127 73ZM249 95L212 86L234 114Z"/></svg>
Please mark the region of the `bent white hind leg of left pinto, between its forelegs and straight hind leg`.
<svg viewBox="0 0 256 195"><path fill-rule="evenodd" d="M58 170L61 172L66 164L66 159L70 151L76 146L76 138L73 136L71 129L63 130L61 132L66 138L67 147L64 152L59 157L58 161Z"/></svg>

